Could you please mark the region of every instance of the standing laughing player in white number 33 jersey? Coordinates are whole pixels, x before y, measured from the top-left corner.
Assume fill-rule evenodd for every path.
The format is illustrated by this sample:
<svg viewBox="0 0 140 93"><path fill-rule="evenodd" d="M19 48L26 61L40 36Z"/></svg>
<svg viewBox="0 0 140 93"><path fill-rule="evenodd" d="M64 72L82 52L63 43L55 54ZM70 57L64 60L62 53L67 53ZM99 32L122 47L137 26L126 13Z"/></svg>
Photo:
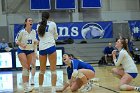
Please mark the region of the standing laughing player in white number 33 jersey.
<svg viewBox="0 0 140 93"><path fill-rule="evenodd" d="M18 58L22 65L22 80L24 92L32 91L32 88L28 87L29 73L34 46L37 44L36 32L32 29L32 24L32 18L25 19L24 29L19 31L15 39L15 42L18 45Z"/></svg>

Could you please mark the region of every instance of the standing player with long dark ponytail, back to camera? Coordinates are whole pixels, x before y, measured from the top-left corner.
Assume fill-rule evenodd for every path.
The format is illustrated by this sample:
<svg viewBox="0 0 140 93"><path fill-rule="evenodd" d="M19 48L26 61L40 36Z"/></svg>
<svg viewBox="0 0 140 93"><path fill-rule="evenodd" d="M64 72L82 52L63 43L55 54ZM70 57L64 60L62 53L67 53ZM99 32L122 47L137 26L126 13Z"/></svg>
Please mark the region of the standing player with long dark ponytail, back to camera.
<svg viewBox="0 0 140 93"><path fill-rule="evenodd" d="M51 70L51 83L52 92L55 92L57 81L56 74L56 44L55 40L58 38L57 26L55 22L48 21L50 14L48 12L42 13L42 21L37 26L39 36L39 60L40 60L40 73L39 73L39 92L43 92L44 74L46 71L47 58L50 62Z"/></svg>

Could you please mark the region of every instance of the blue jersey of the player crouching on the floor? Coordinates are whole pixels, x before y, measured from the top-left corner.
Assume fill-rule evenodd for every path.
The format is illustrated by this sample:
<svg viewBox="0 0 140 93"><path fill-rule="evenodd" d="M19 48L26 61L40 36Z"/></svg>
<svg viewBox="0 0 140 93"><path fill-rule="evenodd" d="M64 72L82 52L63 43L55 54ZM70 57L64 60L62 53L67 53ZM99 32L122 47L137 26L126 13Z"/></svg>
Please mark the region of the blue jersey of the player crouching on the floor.
<svg viewBox="0 0 140 93"><path fill-rule="evenodd" d="M92 70L93 72L95 72L94 68L90 64L85 63L78 59L73 59L71 61L71 67L67 67L67 74L68 74L69 80L71 79L73 71L78 70L78 69L89 69L89 70Z"/></svg>

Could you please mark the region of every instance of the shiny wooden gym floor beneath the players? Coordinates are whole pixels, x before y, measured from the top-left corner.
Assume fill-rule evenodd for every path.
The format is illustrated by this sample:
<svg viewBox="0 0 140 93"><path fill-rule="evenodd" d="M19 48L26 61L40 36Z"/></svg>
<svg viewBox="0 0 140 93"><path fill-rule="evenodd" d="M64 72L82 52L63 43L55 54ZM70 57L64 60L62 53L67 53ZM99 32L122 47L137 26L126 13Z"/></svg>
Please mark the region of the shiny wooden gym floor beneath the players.
<svg viewBox="0 0 140 93"><path fill-rule="evenodd" d="M114 66L95 66L96 70L95 78L98 78L99 81L96 82L101 87L94 85L93 89L87 93L139 93L137 91L119 91L118 84L119 79L114 77L111 74L111 69ZM137 65L138 70L140 71L140 65ZM139 72L140 73L140 72ZM38 75L39 71L36 72L35 75L35 85L32 93L38 93ZM63 82L67 80L66 70L58 69L57 70L58 81L57 88L61 88ZM21 84L21 71L5 71L0 72L0 93L23 93L22 84ZM46 70L45 73L45 81L44 81L44 93L51 93L51 79L50 79L50 71ZM131 85L140 86L140 76L133 80ZM71 93L70 89L64 91L64 93ZM75 92L80 93L80 91Z"/></svg>

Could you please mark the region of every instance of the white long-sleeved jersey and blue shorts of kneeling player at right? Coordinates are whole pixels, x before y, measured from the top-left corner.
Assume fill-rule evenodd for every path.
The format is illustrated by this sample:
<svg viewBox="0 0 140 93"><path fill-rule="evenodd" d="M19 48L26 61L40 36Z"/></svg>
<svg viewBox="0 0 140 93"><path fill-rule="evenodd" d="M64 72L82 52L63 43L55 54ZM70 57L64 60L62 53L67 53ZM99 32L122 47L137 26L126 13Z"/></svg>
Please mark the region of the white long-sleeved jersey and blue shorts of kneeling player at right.
<svg viewBox="0 0 140 93"><path fill-rule="evenodd" d="M133 78L137 76L138 70L136 64L125 49L121 49L118 58L114 59L114 63L116 66L122 65L124 72L130 75L135 74L135 76L131 75Z"/></svg>

